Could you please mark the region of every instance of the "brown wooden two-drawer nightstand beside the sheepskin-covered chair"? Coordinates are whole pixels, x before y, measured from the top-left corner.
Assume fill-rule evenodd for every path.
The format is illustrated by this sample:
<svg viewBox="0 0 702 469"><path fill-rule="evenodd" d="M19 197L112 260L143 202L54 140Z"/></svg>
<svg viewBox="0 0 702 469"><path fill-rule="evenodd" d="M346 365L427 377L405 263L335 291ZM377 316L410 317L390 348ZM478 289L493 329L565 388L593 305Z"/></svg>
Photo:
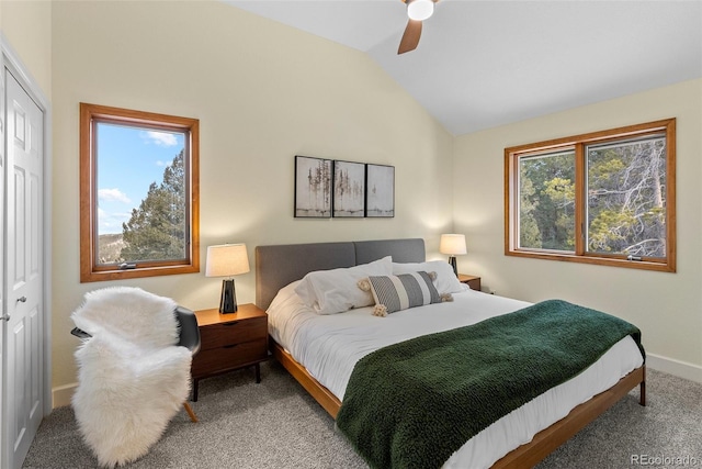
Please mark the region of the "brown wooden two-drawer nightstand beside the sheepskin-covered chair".
<svg viewBox="0 0 702 469"><path fill-rule="evenodd" d="M239 368L256 367L256 382L261 382L261 361L268 359L268 315L254 304L239 304L236 313L219 310L195 311L201 347L193 357L192 400L197 401L201 379Z"/></svg>

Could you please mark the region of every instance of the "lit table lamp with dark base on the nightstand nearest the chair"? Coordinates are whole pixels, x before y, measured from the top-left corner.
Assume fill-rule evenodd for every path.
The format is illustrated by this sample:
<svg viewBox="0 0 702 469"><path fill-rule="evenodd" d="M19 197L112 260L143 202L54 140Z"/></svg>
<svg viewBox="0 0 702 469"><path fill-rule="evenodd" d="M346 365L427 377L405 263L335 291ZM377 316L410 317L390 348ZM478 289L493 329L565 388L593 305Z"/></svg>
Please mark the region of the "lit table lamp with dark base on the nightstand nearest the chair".
<svg viewBox="0 0 702 469"><path fill-rule="evenodd" d="M222 281L220 313L237 312L237 294L234 276L249 271L246 244L220 244L207 247L205 277L227 277Z"/></svg>

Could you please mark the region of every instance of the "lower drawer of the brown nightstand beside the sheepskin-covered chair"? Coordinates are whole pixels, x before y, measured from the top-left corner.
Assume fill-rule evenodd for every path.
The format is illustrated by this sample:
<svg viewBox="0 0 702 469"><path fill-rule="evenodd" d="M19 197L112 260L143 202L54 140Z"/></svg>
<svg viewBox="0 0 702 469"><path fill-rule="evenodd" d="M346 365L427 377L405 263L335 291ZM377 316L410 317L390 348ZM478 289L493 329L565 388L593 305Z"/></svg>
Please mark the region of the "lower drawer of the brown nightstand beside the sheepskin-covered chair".
<svg viewBox="0 0 702 469"><path fill-rule="evenodd" d="M267 340L257 339L239 344L226 345L219 348L200 350L193 359L193 377L202 377L213 372L222 372L229 369L262 361L268 358Z"/></svg>

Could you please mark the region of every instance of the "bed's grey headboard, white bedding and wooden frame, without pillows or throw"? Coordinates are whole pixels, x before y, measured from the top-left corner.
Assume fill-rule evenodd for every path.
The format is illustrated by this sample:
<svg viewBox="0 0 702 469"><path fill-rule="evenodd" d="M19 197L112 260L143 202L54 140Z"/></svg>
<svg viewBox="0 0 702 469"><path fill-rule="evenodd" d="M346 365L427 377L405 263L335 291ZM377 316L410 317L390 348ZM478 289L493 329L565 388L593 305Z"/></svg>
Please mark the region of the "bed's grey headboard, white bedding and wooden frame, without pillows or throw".
<svg viewBox="0 0 702 469"><path fill-rule="evenodd" d="M355 364L371 351L383 348L386 342L404 342L416 333L408 333L409 336L396 333L390 321L371 314L372 305L341 314L310 313L306 306L301 306L295 290L309 272L374 265L386 260L387 256L392 257L394 266L424 265L424 242L409 238L256 248L256 302L259 308L269 310L271 351L333 418L339 416ZM452 297L453 301L441 303L440 308L438 304L422 305L388 317L401 316L404 321L414 322L415 328L441 333L458 327L453 323L457 315L455 309L471 311L465 314L469 320L461 321L474 324L529 306L529 303L471 290L455 291ZM288 310L296 312L280 313ZM433 314L431 321L427 320L427 311ZM444 321L444 316L448 320ZM358 331L362 337L360 346L359 340L349 340L349 336L359 335ZM296 344L294 339L298 336L307 336L308 342ZM637 386L641 388L639 402L645 405L643 349L638 356L637 353L634 340L623 338L571 380L550 389L473 435L445 459L443 467L532 467Z"/></svg>

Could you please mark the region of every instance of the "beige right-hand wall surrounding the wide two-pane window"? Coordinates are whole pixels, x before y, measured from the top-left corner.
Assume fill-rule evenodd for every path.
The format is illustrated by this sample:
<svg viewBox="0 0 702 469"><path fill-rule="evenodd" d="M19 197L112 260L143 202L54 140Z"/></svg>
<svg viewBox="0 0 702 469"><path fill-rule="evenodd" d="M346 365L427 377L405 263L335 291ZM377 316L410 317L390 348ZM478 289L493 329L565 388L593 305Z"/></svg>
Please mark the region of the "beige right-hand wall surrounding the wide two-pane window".
<svg viewBox="0 0 702 469"><path fill-rule="evenodd" d="M503 149L677 118L678 271L652 272L503 255ZM498 294L559 297L638 325L652 366L702 381L702 80L457 137L454 224L466 233L464 271Z"/></svg>

